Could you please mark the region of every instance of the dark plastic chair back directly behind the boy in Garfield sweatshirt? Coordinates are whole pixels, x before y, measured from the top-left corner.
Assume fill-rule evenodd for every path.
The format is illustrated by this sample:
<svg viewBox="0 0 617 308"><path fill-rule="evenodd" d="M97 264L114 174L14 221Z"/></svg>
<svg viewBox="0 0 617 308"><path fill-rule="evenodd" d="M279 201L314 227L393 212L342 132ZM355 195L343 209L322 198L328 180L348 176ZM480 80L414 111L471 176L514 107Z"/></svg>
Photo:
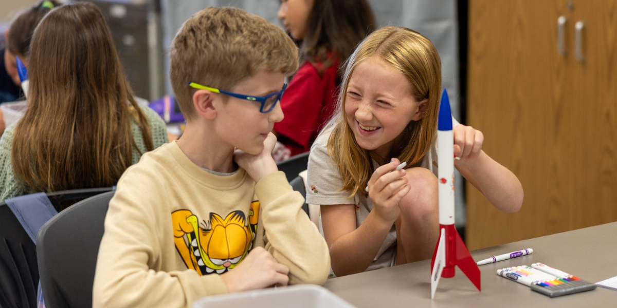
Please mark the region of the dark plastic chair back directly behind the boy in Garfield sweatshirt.
<svg viewBox="0 0 617 308"><path fill-rule="evenodd" d="M75 203L41 227L38 269L47 308L91 307L94 270L109 200L102 193Z"/></svg>

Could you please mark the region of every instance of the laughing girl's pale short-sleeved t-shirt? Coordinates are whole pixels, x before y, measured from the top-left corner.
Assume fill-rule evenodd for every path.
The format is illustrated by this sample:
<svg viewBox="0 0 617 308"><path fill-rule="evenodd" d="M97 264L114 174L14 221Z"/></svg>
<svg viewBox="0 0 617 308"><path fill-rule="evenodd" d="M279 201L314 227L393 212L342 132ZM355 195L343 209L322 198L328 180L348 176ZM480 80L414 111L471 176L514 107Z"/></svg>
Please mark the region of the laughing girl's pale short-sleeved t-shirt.
<svg viewBox="0 0 617 308"><path fill-rule="evenodd" d="M452 118L452 126L458 122ZM355 227L358 228L365 221L368 213L373 210L373 201L356 193L349 197L349 192L340 191L342 187L341 174L336 163L328 155L328 139L332 130L321 132L313 143L309 155L309 174L307 175L306 201L312 205L355 205ZM376 161L373 166L378 168ZM420 161L420 167L429 169L437 177L437 142ZM366 270L381 269L395 265L396 259L396 230L394 224L386 239L379 248L375 259Z"/></svg>

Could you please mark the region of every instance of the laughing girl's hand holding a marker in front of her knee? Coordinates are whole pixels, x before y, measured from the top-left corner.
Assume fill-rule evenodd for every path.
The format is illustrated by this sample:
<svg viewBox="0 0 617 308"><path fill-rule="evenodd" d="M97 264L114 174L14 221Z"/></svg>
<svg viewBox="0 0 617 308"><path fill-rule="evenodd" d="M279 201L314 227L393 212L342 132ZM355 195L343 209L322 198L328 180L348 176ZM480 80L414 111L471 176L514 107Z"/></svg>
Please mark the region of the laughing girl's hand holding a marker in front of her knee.
<svg viewBox="0 0 617 308"><path fill-rule="evenodd" d="M399 160L393 158L390 163L384 164L373 172L368 180L368 195L373 200L375 213L384 221L394 223L399 217L399 201L409 192L410 187L405 177L405 169L394 172L399 166Z"/></svg>

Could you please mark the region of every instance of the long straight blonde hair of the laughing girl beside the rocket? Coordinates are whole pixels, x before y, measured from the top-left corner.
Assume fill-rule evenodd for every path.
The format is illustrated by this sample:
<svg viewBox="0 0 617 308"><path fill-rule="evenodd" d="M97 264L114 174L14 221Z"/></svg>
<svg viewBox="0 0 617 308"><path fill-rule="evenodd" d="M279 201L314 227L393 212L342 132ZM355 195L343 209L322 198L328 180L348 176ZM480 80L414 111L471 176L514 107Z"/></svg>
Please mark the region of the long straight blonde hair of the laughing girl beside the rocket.
<svg viewBox="0 0 617 308"><path fill-rule="evenodd" d="M437 137L437 110L441 94L441 60L437 49L427 38L408 28L386 26L371 33L344 64L338 111L324 129L333 129L328 139L328 153L336 161L341 174L341 190L350 192L350 195L357 192L365 194L363 187L375 171L370 152L357 144L345 116L349 77L358 63L370 57L379 57L405 75L417 102L428 99L426 114L420 121L411 121L401 132L402 142L393 145L389 158L407 161L407 168L417 166ZM379 164L384 163L381 161L383 158L376 159Z"/></svg>

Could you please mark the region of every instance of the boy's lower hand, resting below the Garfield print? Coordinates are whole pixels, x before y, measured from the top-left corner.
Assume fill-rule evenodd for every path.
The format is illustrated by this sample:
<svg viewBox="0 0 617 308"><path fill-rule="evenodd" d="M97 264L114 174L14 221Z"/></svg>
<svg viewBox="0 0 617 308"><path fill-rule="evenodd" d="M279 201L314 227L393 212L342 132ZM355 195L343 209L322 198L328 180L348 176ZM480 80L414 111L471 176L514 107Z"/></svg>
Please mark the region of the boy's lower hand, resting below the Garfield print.
<svg viewBox="0 0 617 308"><path fill-rule="evenodd" d="M221 278L229 293L236 293L272 285L286 286L289 282L288 275L289 267L276 262L266 249L255 247L238 266L221 275Z"/></svg>

